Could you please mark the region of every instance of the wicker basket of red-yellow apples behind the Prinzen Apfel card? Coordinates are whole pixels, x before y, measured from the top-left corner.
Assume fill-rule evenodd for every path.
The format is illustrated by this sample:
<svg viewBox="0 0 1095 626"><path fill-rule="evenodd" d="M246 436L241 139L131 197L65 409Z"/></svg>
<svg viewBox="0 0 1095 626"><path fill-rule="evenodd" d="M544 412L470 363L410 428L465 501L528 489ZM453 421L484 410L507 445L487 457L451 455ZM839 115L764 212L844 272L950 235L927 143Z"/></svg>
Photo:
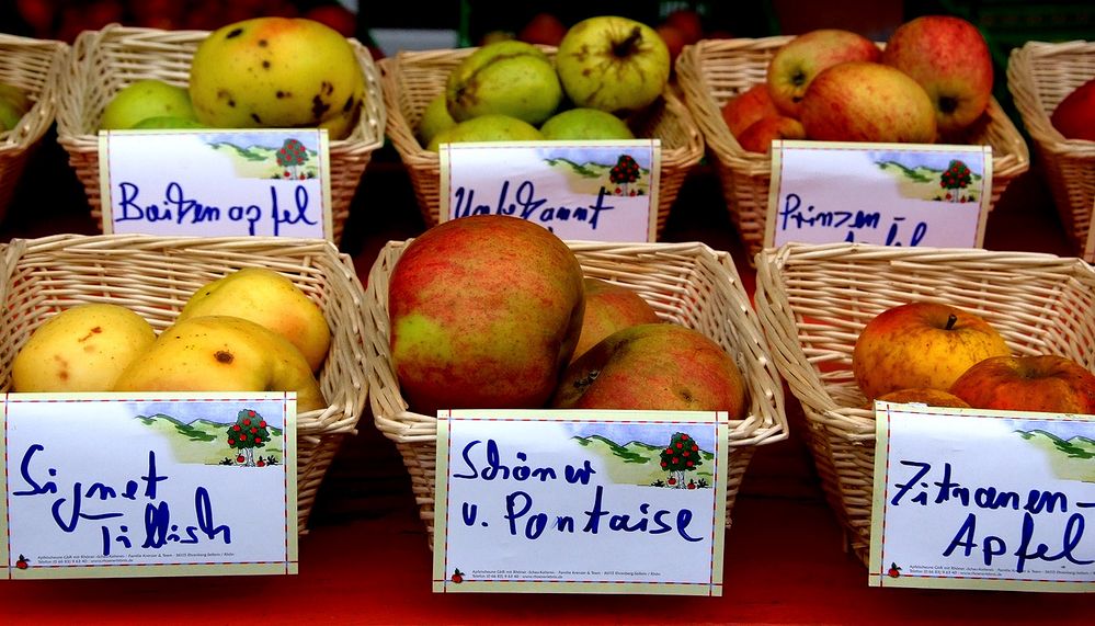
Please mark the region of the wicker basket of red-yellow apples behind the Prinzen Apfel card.
<svg viewBox="0 0 1095 626"><path fill-rule="evenodd" d="M791 38L704 39L685 46L676 61L685 104L715 157L731 221L746 246L750 261L764 246L772 158L742 148L722 119L721 109L733 95L764 82L772 56ZM1030 166L1030 155L1023 136L995 100L990 102L988 115L967 135L953 141L992 146L991 208L1007 184Z"/></svg>

